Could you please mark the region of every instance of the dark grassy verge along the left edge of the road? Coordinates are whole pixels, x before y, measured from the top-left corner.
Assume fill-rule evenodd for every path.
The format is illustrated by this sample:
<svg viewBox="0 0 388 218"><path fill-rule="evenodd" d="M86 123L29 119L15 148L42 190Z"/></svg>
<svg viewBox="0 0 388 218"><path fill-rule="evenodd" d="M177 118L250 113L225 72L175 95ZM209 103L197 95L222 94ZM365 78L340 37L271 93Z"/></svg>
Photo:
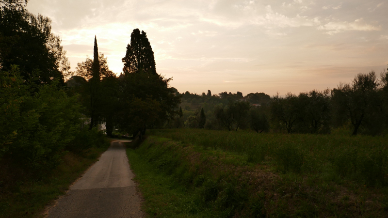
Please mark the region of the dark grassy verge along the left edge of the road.
<svg viewBox="0 0 388 218"><path fill-rule="evenodd" d="M4 186L0 183L0 217L43 217L45 205L53 203L60 195L65 194L68 187L96 162L109 145L110 140L106 139L103 146L91 148L82 154L68 152L55 170L43 172L44 176L40 178L20 174L13 178L13 184ZM1 171L7 171L4 173L9 174L11 169ZM3 179L0 178L0 181Z"/></svg>

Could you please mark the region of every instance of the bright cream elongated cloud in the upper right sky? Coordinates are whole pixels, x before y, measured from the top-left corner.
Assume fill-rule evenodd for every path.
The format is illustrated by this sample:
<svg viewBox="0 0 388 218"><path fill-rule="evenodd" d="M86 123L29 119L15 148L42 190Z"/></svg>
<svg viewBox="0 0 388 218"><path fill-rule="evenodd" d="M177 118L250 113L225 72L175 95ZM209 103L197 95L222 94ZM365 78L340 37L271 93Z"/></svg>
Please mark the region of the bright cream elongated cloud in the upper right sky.
<svg viewBox="0 0 388 218"><path fill-rule="evenodd" d="M363 18L356 19L354 22L329 22L318 27L318 30L325 30L329 35L343 31L380 31L381 26L367 24Z"/></svg>

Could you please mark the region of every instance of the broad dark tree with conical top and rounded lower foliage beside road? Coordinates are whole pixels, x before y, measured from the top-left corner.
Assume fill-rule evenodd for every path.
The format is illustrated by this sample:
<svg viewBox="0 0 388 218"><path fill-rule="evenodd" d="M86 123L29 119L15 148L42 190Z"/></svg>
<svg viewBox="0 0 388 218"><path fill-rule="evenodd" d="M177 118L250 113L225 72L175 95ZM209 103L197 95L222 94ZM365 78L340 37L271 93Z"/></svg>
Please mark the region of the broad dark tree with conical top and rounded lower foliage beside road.
<svg viewBox="0 0 388 218"><path fill-rule="evenodd" d="M120 78L122 94L120 96L121 119L120 128L131 130L133 135L140 132L144 134L147 128L160 126L167 120L174 119L180 103L181 95L174 88L169 88L172 78L164 78L156 72L155 59L152 47L147 39L146 32L134 29L131 34L130 44L127 46L124 63L124 76ZM157 116L147 118L147 113L134 113L128 111L135 105L158 108L154 110ZM148 110L145 110L148 111ZM136 123L135 120L142 120ZM146 121L146 122L144 122ZM139 125L141 123L141 125Z"/></svg>

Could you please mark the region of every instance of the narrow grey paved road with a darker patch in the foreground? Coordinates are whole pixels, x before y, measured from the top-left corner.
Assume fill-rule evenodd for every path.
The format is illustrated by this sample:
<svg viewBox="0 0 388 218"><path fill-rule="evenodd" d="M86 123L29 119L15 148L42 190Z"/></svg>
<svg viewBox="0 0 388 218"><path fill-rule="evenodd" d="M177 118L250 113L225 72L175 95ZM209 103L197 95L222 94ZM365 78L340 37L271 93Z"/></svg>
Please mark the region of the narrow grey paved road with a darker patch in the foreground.
<svg viewBox="0 0 388 218"><path fill-rule="evenodd" d="M111 147L78 180L48 218L142 218L140 197L132 181L124 145Z"/></svg>

